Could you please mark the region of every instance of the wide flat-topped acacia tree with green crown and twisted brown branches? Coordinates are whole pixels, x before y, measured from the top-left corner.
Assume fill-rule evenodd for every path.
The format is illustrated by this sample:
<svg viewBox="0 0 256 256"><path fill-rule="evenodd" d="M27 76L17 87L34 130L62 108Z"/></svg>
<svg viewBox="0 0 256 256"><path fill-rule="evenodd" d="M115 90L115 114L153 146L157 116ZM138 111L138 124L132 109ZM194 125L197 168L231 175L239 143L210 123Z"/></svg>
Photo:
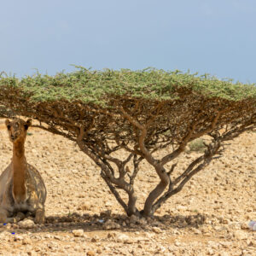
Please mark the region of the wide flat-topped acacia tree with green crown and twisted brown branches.
<svg viewBox="0 0 256 256"><path fill-rule="evenodd" d="M223 152L225 141L256 127L254 84L196 74L80 67L55 76L2 76L0 89L0 116L38 119L37 127L78 143L100 166L102 178L129 216L153 215ZM176 165L168 169L167 164L204 135L212 138L204 153L174 175ZM166 155L156 158L163 148L168 148ZM119 150L127 152L125 160L115 156ZM142 160L153 166L159 182L138 209L134 182Z"/></svg>

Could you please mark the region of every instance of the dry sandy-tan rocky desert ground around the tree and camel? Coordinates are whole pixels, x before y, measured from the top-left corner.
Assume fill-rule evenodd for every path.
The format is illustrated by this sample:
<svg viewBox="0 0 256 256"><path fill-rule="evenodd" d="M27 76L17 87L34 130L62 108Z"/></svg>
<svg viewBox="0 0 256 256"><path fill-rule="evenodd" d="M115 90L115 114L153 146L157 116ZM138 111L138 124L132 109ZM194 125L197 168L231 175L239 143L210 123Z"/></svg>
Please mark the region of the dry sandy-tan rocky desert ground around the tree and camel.
<svg viewBox="0 0 256 256"><path fill-rule="evenodd" d="M154 219L126 218L99 169L63 137L31 129L26 159L48 189L46 224L0 226L0 255L256 255L256 133L226 145ZM0 173L12 146L0 119ZM197 153L185 153L183 168ZM145 173L147 173L145 175ZM139 206L157 182L147 163L136 183Z"/></svg>

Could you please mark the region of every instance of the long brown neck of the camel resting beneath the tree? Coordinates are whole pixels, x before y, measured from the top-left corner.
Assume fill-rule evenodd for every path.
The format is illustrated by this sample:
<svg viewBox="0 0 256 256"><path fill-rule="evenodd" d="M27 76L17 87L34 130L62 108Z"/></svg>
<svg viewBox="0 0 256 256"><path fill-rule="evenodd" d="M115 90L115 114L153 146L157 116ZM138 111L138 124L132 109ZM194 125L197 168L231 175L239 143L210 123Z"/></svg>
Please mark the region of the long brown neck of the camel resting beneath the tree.
<svg viewBox="0 0 256 256"><path fill-rule="evenodd" d="M24 143L18 142L13 145L13 172L14 172L14 196L17 202L26 198L26 157Z"/></svg>

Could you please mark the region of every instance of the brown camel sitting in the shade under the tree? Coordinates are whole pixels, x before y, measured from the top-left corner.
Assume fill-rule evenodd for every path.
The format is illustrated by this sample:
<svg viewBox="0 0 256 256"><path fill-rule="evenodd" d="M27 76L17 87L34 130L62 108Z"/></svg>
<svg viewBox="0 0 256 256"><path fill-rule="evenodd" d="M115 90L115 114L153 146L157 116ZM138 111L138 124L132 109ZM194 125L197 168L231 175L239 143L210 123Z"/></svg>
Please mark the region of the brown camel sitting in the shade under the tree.
<svg viewBox="0 0 256 256"><path fill-rule="evenodd" d="M36 223L42 224L46 200L44 180L25 157L26 131L32 119L6 119L5 125L13 143L13 158L0 176L0 223L14 222L15 215L20 220L30 214Z"/></svg>

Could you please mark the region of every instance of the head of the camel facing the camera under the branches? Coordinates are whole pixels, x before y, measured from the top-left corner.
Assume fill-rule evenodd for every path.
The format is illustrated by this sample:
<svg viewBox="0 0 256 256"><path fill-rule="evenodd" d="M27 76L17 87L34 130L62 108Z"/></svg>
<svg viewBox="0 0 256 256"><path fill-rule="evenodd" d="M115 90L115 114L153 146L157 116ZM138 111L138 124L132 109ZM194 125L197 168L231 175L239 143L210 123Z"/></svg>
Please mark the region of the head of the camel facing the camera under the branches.
<svg viewBox="0 0 256 256"><path fill-rule="evenodd" d="M32 119L27 119L26 121L22 119L9 121L9 119L6 119L5 125L7 127L11 143L25 142L26 131L28 127L32 125Z"/></svg>

